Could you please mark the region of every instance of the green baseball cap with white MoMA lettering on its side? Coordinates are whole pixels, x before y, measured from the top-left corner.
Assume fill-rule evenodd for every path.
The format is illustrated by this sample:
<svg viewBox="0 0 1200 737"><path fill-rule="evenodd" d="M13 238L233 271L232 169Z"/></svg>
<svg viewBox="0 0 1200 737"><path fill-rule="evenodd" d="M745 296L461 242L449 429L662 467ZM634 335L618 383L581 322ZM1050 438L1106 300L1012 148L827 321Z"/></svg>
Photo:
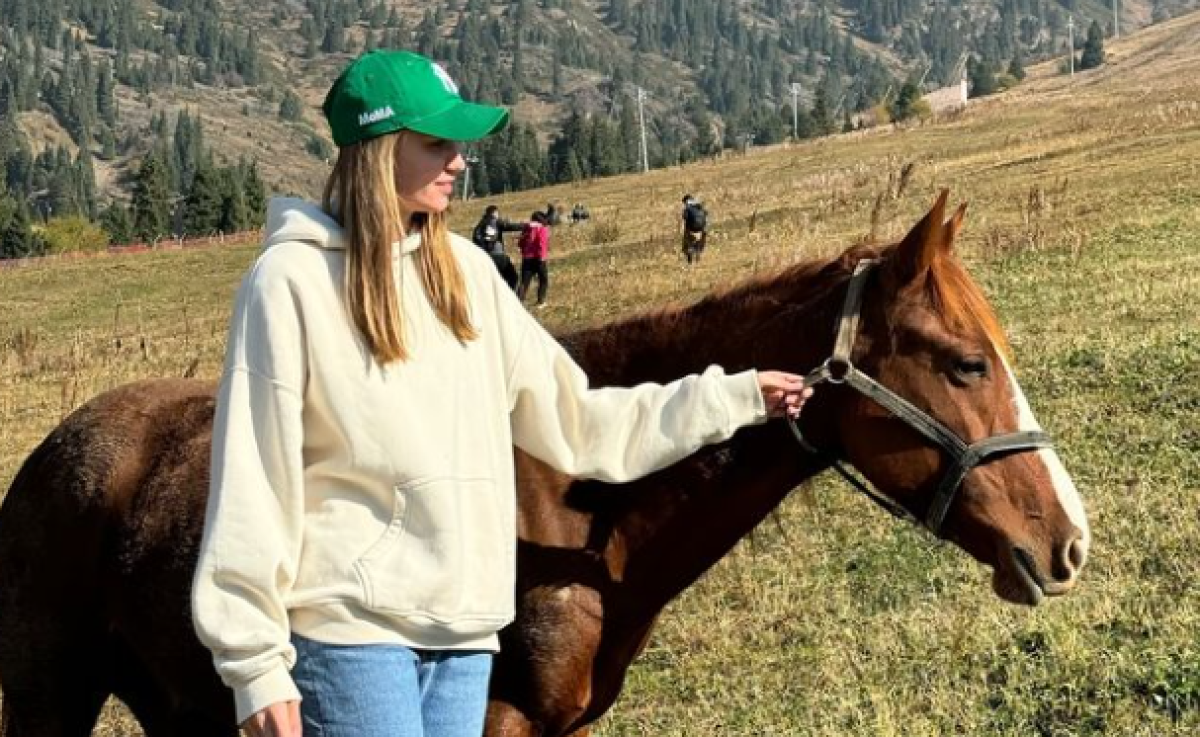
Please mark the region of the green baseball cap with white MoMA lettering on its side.
<svg viewBox="0 0 1200 737"><path fill-rule="evenodd" d="M440 65L420 54L377 49L341 73L322 106L340 146L408 130L478 140L509 122L500 107L467 102Z"/></svg>

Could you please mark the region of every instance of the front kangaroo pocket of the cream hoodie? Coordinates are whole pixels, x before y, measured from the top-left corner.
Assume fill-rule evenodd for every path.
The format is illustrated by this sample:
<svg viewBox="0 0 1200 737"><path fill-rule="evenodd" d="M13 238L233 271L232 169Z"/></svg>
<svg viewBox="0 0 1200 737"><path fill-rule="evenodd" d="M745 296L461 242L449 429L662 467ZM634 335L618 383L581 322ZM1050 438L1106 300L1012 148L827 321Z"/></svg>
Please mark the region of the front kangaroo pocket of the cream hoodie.
<svg viewBox="0 0 1200 737"><path fill-rule="evenodd" d="M512 499L490 479L394 487L392 519L354 563L370 609L436 622L504 624L515 591Z"/></svg>

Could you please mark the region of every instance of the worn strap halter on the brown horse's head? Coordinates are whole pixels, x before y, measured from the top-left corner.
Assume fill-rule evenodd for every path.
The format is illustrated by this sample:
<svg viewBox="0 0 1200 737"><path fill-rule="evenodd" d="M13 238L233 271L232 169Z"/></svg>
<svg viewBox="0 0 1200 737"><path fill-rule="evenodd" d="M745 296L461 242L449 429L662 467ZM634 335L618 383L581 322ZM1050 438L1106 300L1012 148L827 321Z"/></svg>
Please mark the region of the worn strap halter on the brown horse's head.
<svg viewBox="0 0 1200 737"><path fill-rule="evenodd" d="M952 465L946 472L946 475L942 477L942 481L937 485L937 489L930 499L929 510L925 513L925 517L916 517L912 513L890 497L870 489L864 483L856 479L846 469L841 461L835 457L827 456L824 453L809 443L800 432L800 426L797 420L788 418L787 425L791 427L792 435L796 436L800 448L812 455L822 456L828 460L829 465L833 466L833 468L841 474L842 478L865 493L872 502L896 517L907 520L914 525L924 526L929 529L929 532L934 533L935 537L941 538L942 525L946 521L946 515L950 510L950 504L954 503L954 497L961 487L962 480L976 466L979 466L989 460L995 460L1001 455L1024 453L1039 448L1051 448L1054 444L1050 442L1049 435L1037 430L994 435L976 443L967 443L953 430L938 423L900 395L854 367L850 356L854 349L854 340L858 336L858 322L863 306L863 289L866 286L868 274L877 264L877 259L863 259L858 262L857 266L854 266L854 274L851 276L850 286L846 290L846 301L842 302L841 306L841 317L838 320L838 338L836 342L834 342L833 355L827 358L824 362L805 376L804 383L809 387L815 387L826 382L830 384L845 384L863 396L872 400L896 418L904 420L910 427L925 436L932 441L935 445L946 451L952 460Z"/></svg>

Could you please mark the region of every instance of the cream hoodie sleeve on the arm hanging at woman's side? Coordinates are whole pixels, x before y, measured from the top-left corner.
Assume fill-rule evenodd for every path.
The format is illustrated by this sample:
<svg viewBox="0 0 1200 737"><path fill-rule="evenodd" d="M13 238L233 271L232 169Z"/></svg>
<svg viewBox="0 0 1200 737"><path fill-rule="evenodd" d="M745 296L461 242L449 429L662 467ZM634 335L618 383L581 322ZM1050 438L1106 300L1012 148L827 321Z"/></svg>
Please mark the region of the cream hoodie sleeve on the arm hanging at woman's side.
<svg viewBox="0 0 1200 737"><path fill-rule="evenodd" d="M262 262L229 328L212 427L209 502L192 585L200 641L233 689L238 723L299 700L284 595L304 523L304 330L290 287Z"/></svg>

